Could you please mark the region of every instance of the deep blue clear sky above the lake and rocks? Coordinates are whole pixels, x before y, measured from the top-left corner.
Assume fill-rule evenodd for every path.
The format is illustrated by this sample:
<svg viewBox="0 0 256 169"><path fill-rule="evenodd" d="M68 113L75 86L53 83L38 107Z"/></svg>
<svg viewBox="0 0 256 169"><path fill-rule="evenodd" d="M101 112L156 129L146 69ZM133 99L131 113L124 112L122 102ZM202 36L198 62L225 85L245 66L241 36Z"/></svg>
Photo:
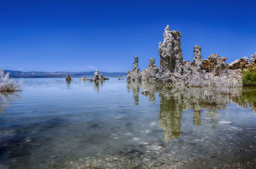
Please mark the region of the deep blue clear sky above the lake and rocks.
<svg viewBox="0 0 256 169"><path fill-rule="evenodd" d="M255 1L0 0L0 69L127 71L159 66L166 24L181 31L183 58L202 47L227 62L256 52Z"/></svg>

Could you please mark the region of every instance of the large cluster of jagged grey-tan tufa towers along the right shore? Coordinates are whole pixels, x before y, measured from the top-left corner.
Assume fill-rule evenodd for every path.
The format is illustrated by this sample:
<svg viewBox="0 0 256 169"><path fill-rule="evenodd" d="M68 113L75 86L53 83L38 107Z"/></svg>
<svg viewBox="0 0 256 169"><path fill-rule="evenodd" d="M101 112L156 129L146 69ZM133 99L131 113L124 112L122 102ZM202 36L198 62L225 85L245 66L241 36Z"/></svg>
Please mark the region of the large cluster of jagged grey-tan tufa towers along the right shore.
<svg viewBox="0 0 256 169"><path fill-rule="evenodd" d="M132 71L127 71L127 80L152 80L161 84L176 85L200 85L204 81L231 79L234 85L241 85L242 68L256 67L256 53L250 61L248 57L242 57L230 64L226 63L226 57L211 54L202 60L201 47L195 45L193 62L184 61L180 48L179 31L170 31L167 25L164 29L164 41L159 42L160 70L155 64L155 59L149 59L146 70L140 72L138 57L134 57ZM224 75L225 74L225 75ZM230 77L232 75L232 77ZM201 84L199 82L202 82Z"/></svg>

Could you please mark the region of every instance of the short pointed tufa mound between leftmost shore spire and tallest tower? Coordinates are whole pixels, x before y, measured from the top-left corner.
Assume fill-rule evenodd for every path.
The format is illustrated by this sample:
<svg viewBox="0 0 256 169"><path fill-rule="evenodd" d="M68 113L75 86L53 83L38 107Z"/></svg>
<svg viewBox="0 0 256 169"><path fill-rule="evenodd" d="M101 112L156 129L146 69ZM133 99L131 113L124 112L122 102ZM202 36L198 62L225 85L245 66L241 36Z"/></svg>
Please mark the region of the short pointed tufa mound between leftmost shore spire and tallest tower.
<svg viewBox="0 0 256 169"><path fill-rule="evenodd" d="M146 70L141 71L142 80L156 80L159 76L159 68L155 64L155 59L149 59L149 65Z"/></svg>

